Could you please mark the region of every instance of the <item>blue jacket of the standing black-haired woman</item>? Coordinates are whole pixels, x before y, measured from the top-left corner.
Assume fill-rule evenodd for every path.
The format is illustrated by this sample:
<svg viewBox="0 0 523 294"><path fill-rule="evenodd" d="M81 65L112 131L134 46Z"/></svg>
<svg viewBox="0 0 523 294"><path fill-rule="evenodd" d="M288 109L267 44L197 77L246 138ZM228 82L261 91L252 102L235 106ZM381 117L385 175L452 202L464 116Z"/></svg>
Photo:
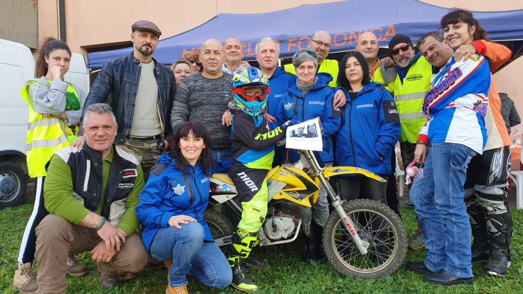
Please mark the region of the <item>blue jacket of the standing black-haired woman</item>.
<svg viewBox="0 0 523 294"><path fill-rule="evenodd" d="M389 175L392 152L401 133L394 99L374 82L365 85L353 100L349 93L345 95L347 105L342 108L336 137L336 166L357 166Z"/></svg>

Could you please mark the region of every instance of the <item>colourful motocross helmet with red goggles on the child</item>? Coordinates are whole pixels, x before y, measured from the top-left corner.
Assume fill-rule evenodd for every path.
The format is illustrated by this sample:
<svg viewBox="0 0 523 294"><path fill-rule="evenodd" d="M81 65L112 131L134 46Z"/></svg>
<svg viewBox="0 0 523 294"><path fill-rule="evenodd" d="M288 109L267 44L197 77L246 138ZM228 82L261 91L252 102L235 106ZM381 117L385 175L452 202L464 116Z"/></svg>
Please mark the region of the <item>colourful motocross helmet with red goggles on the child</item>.
<svg viewBox="0 0 523 294"><path fill-rule="evenodd" d="M254 66L234 73L232 79L234 104L249 116L257 117L267 106L269 78Z"/></svg>

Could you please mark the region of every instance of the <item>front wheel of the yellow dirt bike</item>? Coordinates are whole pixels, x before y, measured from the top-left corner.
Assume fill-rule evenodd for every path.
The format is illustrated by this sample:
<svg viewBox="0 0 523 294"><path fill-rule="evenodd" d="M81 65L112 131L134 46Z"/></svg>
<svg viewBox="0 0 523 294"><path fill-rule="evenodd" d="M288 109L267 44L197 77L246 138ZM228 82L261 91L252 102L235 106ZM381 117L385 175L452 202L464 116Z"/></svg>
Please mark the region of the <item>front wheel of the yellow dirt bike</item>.
<svg viewBox="0 0 523 294"><path fill-rule="evenodd" d="M407 253L407 233L399 216L388 206L370 199L346 201L343 209L361 239L370 243L362 255L336 211L323 231L329 262L345 276L374 279L398 269Z"/></svg>

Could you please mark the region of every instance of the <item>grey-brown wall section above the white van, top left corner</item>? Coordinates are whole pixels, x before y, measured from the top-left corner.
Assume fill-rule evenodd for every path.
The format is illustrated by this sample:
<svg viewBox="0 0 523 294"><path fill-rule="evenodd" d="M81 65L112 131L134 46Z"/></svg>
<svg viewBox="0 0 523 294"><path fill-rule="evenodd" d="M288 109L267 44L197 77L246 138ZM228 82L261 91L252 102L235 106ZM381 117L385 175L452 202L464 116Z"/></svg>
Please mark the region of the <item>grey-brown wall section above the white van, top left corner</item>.
<svg viewBox="0 0 523 294"><path fill-rule="evenodd" d="M38 48L38 6L29 0L2 0L0 39Z"/></svg>

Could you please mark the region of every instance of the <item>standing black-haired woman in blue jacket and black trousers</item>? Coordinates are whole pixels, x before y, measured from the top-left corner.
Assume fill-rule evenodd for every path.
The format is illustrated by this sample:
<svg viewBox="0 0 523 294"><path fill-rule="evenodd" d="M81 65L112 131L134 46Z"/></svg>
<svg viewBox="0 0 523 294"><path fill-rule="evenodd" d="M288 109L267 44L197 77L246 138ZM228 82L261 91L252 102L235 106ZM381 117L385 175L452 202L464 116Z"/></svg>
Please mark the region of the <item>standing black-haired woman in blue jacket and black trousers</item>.
<svg viewBox="0 0 523 294"><path fill-rule="evenodd" d="M357 51L343 56L338 86L344 88L349 98L340 110L335 164L365 168L387 178L394 145L401 133L394 99L382 86L370 81L367 61ZM344 175L338 177L338 184L345 200L359 198L363 188L367 198L386 204L386 183L365 176Z"/></svg>

